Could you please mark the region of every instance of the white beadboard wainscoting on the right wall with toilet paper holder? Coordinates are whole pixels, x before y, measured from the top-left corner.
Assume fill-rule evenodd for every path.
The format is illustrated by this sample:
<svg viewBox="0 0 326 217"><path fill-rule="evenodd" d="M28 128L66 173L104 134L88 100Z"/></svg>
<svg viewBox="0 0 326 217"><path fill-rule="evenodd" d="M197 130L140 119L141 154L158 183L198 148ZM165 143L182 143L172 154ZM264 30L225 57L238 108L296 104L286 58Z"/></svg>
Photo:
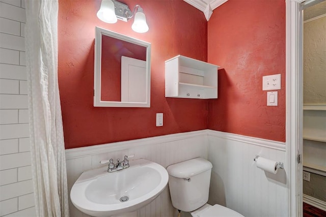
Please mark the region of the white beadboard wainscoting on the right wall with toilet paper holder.
<svg viewBox="0 0 326 217"><path fill-rule="evenodd" d="M270 140L214 131L208 134L208 160L213 164L208 202L244 216L288 216L285 144L282 148L280 142ZM275 175L264 172L256 167L256 154L283 162L284 170Z"/></svg>

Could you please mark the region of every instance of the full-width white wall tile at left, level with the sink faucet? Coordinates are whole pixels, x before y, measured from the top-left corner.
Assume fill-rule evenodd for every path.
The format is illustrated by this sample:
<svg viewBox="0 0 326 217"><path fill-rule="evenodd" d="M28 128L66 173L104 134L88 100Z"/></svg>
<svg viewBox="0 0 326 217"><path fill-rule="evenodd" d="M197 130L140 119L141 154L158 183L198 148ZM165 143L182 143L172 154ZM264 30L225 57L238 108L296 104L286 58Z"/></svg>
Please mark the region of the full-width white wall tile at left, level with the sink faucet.
<svg viewBox="0 0 326 217"><path fill-rule="evenodd" d="M13 153L0 156L0 170L29 165L31 165L31 152Z"/></svg>

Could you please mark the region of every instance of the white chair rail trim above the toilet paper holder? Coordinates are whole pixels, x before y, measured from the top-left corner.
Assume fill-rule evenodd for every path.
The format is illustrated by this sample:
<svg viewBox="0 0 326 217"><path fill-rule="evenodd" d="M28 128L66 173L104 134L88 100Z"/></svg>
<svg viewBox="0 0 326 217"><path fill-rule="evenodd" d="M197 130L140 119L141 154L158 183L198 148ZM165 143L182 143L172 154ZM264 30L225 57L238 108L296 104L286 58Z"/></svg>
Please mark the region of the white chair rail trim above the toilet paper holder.
<svg viewBox="0 0 326 217"><path fill-rule="evenodd" d="M214 131L214 130L207 130L207 135L285 151L285 142L261 139L261 138L250 137L250 136L242 136L238 134L225 133L225 132Z"/></svg>

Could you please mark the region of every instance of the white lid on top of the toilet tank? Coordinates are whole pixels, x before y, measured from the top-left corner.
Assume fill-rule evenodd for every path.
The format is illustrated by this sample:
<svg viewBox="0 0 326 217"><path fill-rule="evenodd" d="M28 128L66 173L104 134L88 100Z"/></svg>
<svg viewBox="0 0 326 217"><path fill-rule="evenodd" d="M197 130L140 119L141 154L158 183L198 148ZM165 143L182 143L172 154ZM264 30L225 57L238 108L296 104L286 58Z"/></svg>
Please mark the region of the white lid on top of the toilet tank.
<svg viewBox="0 0 326 217"><path fill-rule="evenodd" d="M213 165L203 159L195 158L168 166L167 171L170 175L177 178L189 178L199 173L210 170Z"/></svg>

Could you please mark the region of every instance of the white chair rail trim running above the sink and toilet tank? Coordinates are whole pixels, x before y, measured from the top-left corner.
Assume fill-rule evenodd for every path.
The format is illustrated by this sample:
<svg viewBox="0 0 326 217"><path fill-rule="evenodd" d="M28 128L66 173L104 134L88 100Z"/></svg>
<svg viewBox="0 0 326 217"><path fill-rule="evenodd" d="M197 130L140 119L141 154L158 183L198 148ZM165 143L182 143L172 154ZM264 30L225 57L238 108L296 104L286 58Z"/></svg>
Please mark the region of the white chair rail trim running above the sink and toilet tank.
<svg viewBox="0 0 326 217"><path fill-rule="evenodd" d="M178 141L178 140L200 137L200 136L207 136L207 130L169 134L164 136L155 136L155 137L148 137L144 139L134 139L129 141L113 142L113 143L92 145L92 146L79 147L79 148L70 148L70 149L66 149L66 160L91 156L93 154L100 154L108 151L111 152L117 150L124 150L131 147L160 144L160 143Z"/></svg>

